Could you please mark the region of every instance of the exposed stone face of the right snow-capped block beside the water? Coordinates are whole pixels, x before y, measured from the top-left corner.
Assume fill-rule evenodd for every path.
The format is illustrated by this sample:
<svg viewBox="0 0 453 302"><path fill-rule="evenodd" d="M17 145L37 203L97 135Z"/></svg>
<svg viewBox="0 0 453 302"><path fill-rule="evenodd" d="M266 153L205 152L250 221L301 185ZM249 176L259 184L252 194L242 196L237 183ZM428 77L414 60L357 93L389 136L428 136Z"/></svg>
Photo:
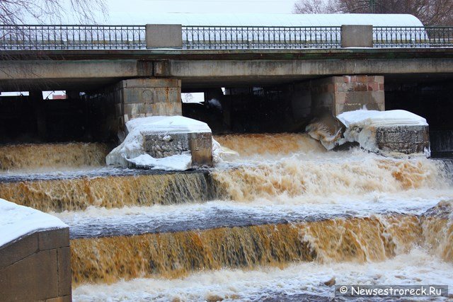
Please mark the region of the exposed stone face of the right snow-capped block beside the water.
<svg viewBox="0 0 453 302"><path fill-rule="evenodd" d="M430 148L428 126L375 127L377 146L382 151L400 153L423 153Z"/></svg>

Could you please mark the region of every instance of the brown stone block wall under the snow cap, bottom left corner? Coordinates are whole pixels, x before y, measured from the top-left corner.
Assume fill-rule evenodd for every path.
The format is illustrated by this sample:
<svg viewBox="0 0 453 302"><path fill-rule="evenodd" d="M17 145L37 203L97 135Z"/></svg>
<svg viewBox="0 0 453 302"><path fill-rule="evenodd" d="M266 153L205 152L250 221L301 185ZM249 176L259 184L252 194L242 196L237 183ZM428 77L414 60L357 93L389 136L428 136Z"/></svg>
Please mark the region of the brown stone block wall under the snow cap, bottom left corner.
<svg viewBox="0 0 453 302"><path fill-rule="evenodd" d="M71 301L69 228L39 231L0 248L1 301Z"/></svg>

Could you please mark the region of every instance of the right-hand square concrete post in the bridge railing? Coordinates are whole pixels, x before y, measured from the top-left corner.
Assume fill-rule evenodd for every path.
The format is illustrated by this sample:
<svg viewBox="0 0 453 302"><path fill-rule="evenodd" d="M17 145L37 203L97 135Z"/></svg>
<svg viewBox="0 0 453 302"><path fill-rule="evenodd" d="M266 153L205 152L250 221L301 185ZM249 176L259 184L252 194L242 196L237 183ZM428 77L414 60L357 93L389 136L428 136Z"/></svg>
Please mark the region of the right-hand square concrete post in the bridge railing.
<svg viewBox="0 0 453 302"><path fill-rule="evenodd" d="M341 25L341 47L373 47L373 25Z"/></svg>

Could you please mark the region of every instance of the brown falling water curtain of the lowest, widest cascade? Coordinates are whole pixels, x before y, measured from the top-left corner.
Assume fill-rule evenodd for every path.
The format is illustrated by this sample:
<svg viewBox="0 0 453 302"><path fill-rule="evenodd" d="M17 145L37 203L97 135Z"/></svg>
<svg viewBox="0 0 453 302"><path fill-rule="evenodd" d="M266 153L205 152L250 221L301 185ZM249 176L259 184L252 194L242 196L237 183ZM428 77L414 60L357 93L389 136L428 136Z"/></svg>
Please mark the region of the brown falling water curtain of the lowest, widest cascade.
<svg viewBox="0 0 453 302"><path fill-rule="evenodd" d="M383 261L408 252L414 245L429 246L451 262L451 217L452 204L441 202L422 215L326 217L291 223L74 238L73 280L75 284L110 283L137 277L177 278L224 267L253 269L285 267L301 261Z"/></svg>

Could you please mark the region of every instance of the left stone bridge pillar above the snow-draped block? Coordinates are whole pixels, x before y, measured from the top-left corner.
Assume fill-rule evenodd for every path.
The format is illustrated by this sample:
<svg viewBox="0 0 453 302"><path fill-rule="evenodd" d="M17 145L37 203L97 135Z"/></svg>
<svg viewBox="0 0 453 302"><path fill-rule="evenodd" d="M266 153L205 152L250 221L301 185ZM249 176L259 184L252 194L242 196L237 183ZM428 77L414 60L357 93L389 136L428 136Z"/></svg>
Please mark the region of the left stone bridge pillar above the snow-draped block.
<svg viewBox="0 0 453 302"><path fill-rule="evenodd" d="M181 81L178 79L129 79L114 88L124 122L134 117L182 115ZM121 111L121 110L117 110Z"/></svg>

